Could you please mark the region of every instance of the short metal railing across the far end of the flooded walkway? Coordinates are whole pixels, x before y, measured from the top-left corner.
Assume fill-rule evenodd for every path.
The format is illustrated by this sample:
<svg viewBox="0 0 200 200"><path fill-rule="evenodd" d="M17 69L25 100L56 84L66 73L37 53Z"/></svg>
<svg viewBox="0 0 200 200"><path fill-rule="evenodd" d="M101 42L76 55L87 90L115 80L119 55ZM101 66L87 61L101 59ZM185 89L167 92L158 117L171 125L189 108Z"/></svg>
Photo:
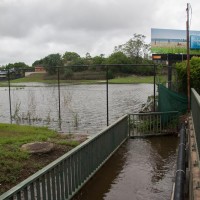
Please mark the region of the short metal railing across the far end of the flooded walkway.
<svg viewBox="0 0 200 200"><path fill-rule="evenodd" d="M141 137L178 132L178 111L129 115L129 136Z"/></svg>

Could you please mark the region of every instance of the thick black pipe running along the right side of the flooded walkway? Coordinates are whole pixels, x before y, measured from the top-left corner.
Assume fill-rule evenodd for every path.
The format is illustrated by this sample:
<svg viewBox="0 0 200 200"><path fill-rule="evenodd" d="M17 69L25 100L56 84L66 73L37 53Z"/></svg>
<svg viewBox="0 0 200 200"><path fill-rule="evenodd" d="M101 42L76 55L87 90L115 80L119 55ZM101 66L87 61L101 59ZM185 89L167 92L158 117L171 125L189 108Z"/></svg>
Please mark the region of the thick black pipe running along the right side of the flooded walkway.
<svg viewBox="0 0 200 200"><path fill-rule="evenodd" d="M176 179L175 179L175 188L174 188L174 200L183 200L184 199L184 186L186 179L186 129L185 125L182 124L180 130L180 142L178 149L178 158L177 158L177 169L176 169Z"/></svg>

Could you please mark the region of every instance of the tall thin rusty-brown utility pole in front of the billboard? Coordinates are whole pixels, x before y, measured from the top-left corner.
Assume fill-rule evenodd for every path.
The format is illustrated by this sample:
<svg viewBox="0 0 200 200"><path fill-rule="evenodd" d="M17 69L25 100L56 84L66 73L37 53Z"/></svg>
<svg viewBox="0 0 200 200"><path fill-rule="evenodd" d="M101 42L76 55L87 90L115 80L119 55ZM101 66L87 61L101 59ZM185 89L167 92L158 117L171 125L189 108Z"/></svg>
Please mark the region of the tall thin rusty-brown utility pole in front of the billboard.
<svg viewBox="0 0 200 200"><path fill-rule="evenodd" d="M190 112L190 49L189 49L189 3L187 3L187 21L186 21L186 38L187 38L187 93L188 93L188 112Z"/></svg>

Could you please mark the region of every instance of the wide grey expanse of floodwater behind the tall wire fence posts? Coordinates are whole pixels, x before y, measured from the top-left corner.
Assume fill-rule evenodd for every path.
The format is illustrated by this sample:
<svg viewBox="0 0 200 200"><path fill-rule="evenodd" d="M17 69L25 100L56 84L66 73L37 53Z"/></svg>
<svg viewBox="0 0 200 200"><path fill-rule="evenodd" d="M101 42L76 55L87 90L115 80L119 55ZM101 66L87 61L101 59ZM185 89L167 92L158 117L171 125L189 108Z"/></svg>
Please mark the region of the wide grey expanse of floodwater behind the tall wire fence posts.
<svg viewBox="0 0 200 200"><path fill-rule="evenodd" d="M12 115L19 123L58 128L58 90L56 85L12 87ZM10 122L8 88L0 88L1 122ZM153 94L152 84L109 85L109 121L137 112ZM62 130L96 133L106 126L105 85L61 86ZM32 120L31 120L32 119Z"/></svg>

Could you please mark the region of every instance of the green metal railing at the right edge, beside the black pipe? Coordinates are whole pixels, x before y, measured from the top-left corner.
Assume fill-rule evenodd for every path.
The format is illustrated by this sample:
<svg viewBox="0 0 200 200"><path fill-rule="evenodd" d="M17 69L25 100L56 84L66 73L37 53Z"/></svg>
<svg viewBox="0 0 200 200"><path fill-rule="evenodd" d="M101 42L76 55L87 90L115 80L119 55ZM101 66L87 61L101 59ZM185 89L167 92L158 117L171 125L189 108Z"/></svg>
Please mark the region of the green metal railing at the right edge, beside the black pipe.
<svg viewBox="0 0 200 200"><path fill-rule="evenodd" d="M191 89L191 112L192 119L194 124L194 129L196 133L196 142L198 153L200 152L200 95L195 91L195 89Z"/></svg>

